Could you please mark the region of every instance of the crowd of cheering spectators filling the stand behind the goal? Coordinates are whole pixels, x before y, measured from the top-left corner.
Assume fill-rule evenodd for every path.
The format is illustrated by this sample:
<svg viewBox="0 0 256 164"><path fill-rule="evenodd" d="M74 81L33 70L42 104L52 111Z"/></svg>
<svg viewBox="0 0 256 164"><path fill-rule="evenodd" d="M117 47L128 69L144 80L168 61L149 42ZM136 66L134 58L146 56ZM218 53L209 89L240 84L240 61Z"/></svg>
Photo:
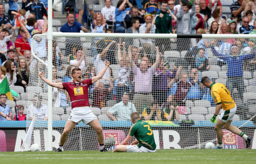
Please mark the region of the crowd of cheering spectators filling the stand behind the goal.
<svg viewBox="0 0 256 164"><path fill-rule="evenodd" d="M81 2L80 2L81 1ZM83 0L78 0L83 4ZM105 0L101 12L91 7L92 0L85 0L85 6L93 21L86 28L82 21L83 7L78 5L78 21L73 13L67 13L67 23L61 32L92 33L177 33L177 34L254 34L256 33L255 1L238 0L230 4L230 15L223 15L220 0ZM100 2L103 4L103 2ZM111 4L116 4L112 6ZM8 16L4 15L4 5L0 4L0 81L7 77L9 86L28 86L29 72L33 69L30 61L31 42L35 34L47 31L47 9L44 0L22 1L18 10L17 1L9 0ZM28 18L26 11L30 11ZM240 24L241 22L241 24ZM254 28L255 27L255 28ZM14 44L12 42L14 41ZM111 67L103 78L89 88L91 106L100 109L107 101L115 100L115 105L106 115L111 120L129 120L130 113L138 111L143 120L180 120L186 114L186 102L196 100L214 101L210 91L200 83L202 74L211 70L210 52L217 57L217 66L226 66L225 81L230 92L236 88L237 98L243 100L245 84L243 72L254 72L256 68L255 39L109 39L93 38L91 56L81 45L74 44L74 38L67 38L65 53L53 41L53 81L72 81L71 71L79 67L83 78L89 79L104 67L104 61L118 64L117 76ZM33 40L33 53L46 60L46 39ZM170 46L175 45L175 46ZM165 60L165 51L186 51L183 59L175 65ZM117 56L117 57L116 57ZM65 61L67 57L68 61ZM116 60L117 59L117 60ZM65 68L63 63L69 64ZM184 64L185 63L185 64ZM65 76L58 72L66 70ZM213 80L214 77L212 77ZM42 84L42 86L45 84ZM45 90L44 90L45 91ZM70 100L65 90L54 88L54 107L66 109ZM1 94L2 95L2 94ZM22 107L17 107L18 116L9 114L0 95L2 120L24 120ZM4 96L3 96L4 97ZM41 103L40 95L35 95L29 107L27 119L32 119L36 111L38 120L47 120L47 106ZM130 101L129 101L130 100ZM38 103L39 102L39 103ZM239 106L239 105L238 105ZM242 105L241 105L242 106ZM24 110L24 107L23 107ZM68 114L68 113L67 113ZM19 117L20 116L20 117Z"/></svg>

